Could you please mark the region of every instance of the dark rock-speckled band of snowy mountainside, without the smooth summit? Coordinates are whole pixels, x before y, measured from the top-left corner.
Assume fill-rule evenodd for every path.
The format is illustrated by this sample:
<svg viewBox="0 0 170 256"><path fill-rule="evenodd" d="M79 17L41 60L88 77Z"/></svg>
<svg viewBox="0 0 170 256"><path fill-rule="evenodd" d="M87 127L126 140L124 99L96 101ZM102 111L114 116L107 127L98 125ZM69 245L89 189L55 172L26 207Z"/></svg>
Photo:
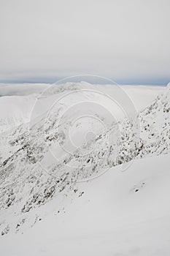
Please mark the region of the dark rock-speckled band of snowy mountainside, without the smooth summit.
<svg viewBox="0 0 170 256"><path fill-rule="evenodd" d="M37 207L45 205L53 197L77 192L77 181L96 178L116 165L122 165L124 168L123 164L133 159L169 154L169 99L170 88L167 87L150 107L136 116L139 124L127 118L117 124L111 123L102 134L89 140L81 151L73 151L73 154L64 151L59 163L56 163L55 157L48 153L46 144L49 143L48 146L51 148L52 144L56 143L58 146L64 145L63 130L59 130L56 134L58 123L53 120L53 115L56 117L55 112L51 116L53 122L45 124L44 140L40 136L42 130L44 132L44 119L31 127L31 136L27 124L8 132L7 138L1 139L9 154L8 157L5 155L3 157L1 154L0 159L1 212L7 211L9 219L13 216L17 222L18 218L25 219L25 216L29 219L31 211L36 212ZM62 129L66 127L65 124L67 125L67 118L66 121L64 120ZM133 128L135 125L137 127L139 125L140 131ZM109 133L112 136L107 140ZM96 148L88 154L88 157L81 155L94 144ZM118 154L115 154L114 145ZM77 193L82 195L81 191ZM18 218L14 217L12 208L16 208L15 213ZM7 219L3 219L2 223L7 223ZM13 224L10 230L16 230L16 225ZM4 233L4 229L1 232Z"/></svg>

